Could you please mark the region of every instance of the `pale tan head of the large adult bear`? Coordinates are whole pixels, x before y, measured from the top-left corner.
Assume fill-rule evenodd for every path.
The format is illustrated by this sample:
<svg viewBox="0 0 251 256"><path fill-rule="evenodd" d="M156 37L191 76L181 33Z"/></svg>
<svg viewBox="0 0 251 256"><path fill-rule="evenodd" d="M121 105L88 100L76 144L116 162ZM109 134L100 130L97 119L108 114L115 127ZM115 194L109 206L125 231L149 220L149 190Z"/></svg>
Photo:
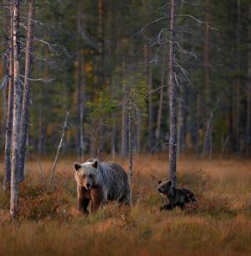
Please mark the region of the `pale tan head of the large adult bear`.
<svg viewBox="0 0 251 256"><path fill-rule="evenodd" d="M78 185L84 186L87 191L90 191L92 186L95 185L97 167L98 160L85 162L84 164L74 163L74 177Z"/></svg>

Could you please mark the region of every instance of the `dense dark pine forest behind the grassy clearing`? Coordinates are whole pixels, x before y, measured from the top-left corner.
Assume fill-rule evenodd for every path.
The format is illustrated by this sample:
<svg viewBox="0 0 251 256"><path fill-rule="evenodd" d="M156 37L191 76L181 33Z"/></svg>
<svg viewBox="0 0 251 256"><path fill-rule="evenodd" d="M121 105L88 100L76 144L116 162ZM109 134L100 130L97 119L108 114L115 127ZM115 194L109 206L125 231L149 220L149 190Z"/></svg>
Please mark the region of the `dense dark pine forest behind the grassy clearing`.
<svg viewBox="0 0 251 256"><path fill-rule="evenodd" d="M3 152L10 25L9 1L1 2ZM166 150L171 4L158 0L34 4L28 152L55 151L65 111L70 112L70 121L64 153L126 156L129 139L137 154ZM178 154L249 154L250 12L248 0L177 1L173 42ZM28 2L21 1L22 83L27 29Z"/></svg>

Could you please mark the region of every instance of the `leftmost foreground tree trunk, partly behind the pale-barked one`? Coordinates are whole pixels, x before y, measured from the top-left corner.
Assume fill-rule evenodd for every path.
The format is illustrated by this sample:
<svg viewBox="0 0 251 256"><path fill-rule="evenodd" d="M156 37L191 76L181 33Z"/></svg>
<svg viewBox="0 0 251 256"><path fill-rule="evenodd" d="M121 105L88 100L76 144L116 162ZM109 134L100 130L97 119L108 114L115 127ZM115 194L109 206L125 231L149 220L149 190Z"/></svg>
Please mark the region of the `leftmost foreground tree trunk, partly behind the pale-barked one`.
<svg viewBox="0 0 251 256"><path fill-rule="evenodd" d="M8 55L8 112L6 120L5 148L4 148L4 179L3 189L6 189L11 180L11 143L13 124L13 2L10 1L10 33Z"/></svg>

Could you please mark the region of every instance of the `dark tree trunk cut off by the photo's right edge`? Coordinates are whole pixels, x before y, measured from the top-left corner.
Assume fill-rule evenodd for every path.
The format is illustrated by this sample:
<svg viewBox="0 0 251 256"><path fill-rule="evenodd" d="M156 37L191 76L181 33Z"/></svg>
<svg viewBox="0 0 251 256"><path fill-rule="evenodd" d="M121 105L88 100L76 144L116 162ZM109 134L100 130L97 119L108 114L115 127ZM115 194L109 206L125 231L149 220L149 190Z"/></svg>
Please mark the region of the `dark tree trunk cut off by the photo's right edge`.
<svg viewBox="0 0 251 256"><path fill-rule="evenodd" d="M251 5L249 5L249 18L251 17ZM251 139L251 24L248 26L248 85L247 85L247 128L246 128L246 154L250 153Z"/></svg>

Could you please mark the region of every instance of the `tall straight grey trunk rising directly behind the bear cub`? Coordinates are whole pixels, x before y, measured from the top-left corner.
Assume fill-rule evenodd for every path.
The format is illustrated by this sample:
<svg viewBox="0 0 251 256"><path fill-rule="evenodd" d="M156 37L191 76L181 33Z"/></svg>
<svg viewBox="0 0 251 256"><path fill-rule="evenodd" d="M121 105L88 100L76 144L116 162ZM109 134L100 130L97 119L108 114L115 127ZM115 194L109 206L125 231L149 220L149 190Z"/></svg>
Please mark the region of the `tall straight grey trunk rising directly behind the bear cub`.
<svg viewBox="0 0 251 256"><path fill-rule="evenodd" d="M177 185L177 85L174 81L174 18L176 0L171 1L171 20L170 20L170 49L169 49L169 104L170 104L170 138L169 138L169 176L173 184Z"/></svg>

